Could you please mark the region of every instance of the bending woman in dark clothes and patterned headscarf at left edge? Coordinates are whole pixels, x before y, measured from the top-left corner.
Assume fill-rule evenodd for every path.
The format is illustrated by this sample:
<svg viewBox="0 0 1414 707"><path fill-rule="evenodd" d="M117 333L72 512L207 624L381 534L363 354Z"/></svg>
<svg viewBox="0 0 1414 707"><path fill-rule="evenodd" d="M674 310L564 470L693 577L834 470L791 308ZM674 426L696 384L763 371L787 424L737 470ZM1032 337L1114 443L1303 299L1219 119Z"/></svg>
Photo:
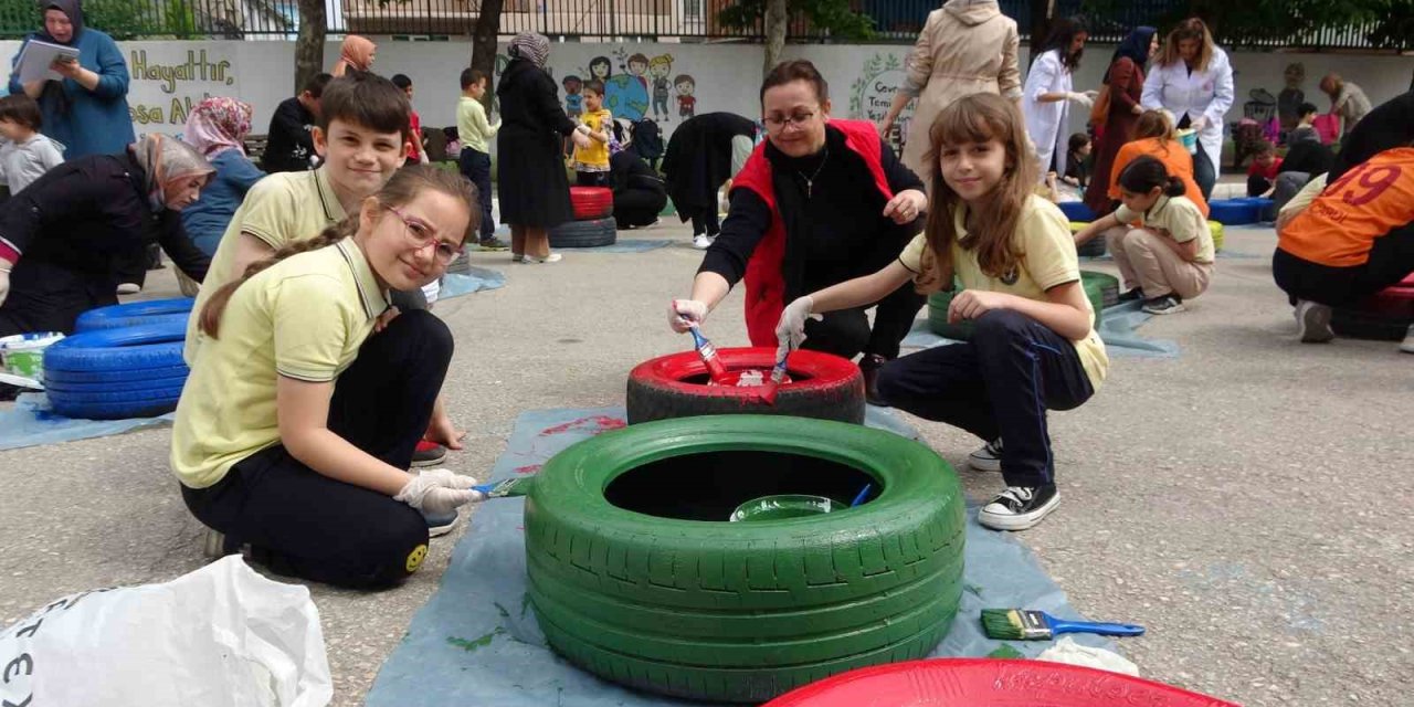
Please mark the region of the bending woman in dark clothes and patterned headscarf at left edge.
<svg viewBox="0 0 1414 707"><path fill-rule="evenodd" d="M188 277L211 264L178 211L212 168L191 146L144 136L119 154L69 160L0 204L0 337L74 331L86 310L115 304L115 263L161 245Z"/></svg>

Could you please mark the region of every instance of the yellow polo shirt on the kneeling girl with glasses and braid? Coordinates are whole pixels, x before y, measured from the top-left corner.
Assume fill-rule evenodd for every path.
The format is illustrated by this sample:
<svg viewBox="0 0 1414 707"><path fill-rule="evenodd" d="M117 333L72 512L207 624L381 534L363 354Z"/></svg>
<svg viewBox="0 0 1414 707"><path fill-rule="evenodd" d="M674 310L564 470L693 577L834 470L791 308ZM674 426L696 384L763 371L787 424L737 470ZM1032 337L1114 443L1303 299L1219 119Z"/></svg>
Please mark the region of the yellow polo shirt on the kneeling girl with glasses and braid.
<svg viewBox="0 0 1414 707"><path fill-rule="evenodd" d="M280 441L279 376L331 382L387 308L352 239L290 256L246 280L191 363L177 403L171 465L189 488ZM195 320L195 317L194 317Z"/></svg>

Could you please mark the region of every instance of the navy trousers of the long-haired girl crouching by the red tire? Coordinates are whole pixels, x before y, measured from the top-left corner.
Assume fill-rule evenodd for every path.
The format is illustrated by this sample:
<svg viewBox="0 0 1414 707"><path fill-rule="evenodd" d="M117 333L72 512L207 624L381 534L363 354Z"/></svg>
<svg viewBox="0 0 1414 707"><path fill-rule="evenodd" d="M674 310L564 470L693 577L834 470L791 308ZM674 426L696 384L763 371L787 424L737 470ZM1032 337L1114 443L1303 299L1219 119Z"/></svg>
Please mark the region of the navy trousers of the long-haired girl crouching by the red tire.
<svg viewBox="0 0 1414 707"><path fill-rule="evenodd" d="M1000 437L1008 486L1055 484L1046 410L1079 407L1094 393L1075 345L1012 310L983 314L970 342L891 361L878 390L919 417Z"/></svg>

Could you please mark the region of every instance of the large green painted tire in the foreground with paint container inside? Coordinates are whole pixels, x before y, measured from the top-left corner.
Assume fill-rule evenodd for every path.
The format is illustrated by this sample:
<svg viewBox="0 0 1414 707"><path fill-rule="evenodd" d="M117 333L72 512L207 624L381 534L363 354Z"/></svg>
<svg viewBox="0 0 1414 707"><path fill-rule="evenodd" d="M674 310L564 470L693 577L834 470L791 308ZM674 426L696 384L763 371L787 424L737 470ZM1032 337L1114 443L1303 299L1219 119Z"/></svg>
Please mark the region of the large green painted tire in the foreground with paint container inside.
<svg viewBox="0 0 1414 707"><path fill-rule="evenodd" d="M858 508L754 523L659 518L609 499L639 467L679 460L672 474L691 464L683 457L718 452L823 460L868 478L874 492ZM735 491L727 475L761 469L741 468L718 462L723 477L704 488ZM530 602L550 646L591 673L674 697L761 703L928 655L962 598L963 503L956 474L932 450L858 424L778 416L635 424L540 469L525 509Z"/></svg>

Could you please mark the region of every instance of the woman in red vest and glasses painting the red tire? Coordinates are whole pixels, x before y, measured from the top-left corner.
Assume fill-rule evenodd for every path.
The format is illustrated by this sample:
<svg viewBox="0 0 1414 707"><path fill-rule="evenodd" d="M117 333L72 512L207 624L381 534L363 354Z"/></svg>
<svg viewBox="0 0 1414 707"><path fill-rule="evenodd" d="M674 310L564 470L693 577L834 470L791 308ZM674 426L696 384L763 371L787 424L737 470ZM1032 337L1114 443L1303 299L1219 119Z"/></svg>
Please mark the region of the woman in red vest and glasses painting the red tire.
<svg viewBox="0 0 1414 707"><path fill-rule="evenodd" d="M731 208L697 269L691 297L673 300L669 322L687 331L747 280L747 332L776 346L785 303L888 264L922 228L923 182L880 140L872 123L831 120L824 78L803 59L778 65L761 86L766 140L731 187ZM913 325L923 296L904 286L875 303L806 325L805 348L860 359L870 402L874 379Z"/></svg>

